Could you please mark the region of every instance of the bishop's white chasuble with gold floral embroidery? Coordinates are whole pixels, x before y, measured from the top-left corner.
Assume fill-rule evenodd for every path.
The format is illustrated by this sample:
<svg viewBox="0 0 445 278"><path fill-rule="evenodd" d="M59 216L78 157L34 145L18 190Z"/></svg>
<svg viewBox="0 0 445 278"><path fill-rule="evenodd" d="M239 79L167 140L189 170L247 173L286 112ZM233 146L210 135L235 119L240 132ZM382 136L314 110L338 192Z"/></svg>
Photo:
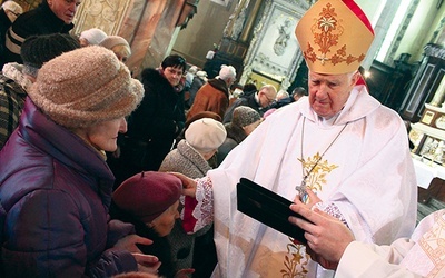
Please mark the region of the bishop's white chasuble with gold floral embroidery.
<svg viewBox="0 0 445 278"><path fill-rule="evenodd" d="M218 254L214 277L334 276L310 261L304 246L236 205L243 177L294 200L304 173L326 149L306 183L326 208L337 209L356 239L389 244L411 235L417 186L405 125L357 86L330 125L315 115L308 98L301 99L269 116L208 172Z"/></svg>

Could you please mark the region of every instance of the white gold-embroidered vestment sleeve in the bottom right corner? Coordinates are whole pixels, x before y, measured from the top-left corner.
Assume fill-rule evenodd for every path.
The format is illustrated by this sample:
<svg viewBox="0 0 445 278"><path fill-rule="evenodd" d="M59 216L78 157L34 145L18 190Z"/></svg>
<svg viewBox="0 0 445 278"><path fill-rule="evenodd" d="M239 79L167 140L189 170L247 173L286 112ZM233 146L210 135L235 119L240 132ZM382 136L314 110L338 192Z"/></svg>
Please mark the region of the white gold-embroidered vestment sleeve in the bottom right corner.
<svg viewBox="0 0 445 278"><path fill-rule="evenodd" d="M445 209L425 217L411 239L399 238L390 246L352 242L336 277L445 277Z"/></svg>

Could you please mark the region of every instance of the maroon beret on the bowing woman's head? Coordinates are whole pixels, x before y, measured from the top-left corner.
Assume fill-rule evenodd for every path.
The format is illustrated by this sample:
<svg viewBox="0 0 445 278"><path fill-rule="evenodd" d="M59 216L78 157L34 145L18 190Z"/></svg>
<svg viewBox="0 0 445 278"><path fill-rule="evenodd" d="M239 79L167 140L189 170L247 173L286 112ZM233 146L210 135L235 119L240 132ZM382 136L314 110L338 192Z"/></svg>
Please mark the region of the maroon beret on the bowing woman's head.
<svg viewBox="0 0 445 278"><path fill-rule="evenodd" d="M120 209L151 222L181 195L182 182L167 172L147 171L128 178L112 193L112 200Z"/></svg>

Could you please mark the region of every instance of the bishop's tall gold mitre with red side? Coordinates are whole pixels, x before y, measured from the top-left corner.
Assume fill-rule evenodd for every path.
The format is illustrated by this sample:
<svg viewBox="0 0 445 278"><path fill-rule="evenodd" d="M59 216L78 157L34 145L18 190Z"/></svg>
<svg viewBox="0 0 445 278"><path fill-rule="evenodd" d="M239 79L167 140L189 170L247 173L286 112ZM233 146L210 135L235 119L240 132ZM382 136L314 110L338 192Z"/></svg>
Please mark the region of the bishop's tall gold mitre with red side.
<svg viewBox="0 0 445 278"><path fill-rule="evenodd" d="M342 0L318 0L299 20L295 34L309 70L325 75L356 71L374 39L362 9Z"/></svg>

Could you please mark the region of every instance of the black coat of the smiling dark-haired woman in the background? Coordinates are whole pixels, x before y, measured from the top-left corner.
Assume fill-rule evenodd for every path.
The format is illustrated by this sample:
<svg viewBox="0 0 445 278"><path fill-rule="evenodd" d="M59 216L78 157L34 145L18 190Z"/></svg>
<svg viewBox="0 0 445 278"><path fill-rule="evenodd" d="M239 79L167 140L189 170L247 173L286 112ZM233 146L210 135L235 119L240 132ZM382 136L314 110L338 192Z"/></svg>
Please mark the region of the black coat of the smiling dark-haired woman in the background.
<svg viewBox="0 0 445 278"><path fill-rule="evenodd" d="M177 91L156 69L145 69L141 77L145 96L128 120L122 146L122 159L134 165L134 173L157 171L186 121L184 91Z"/></svg>

